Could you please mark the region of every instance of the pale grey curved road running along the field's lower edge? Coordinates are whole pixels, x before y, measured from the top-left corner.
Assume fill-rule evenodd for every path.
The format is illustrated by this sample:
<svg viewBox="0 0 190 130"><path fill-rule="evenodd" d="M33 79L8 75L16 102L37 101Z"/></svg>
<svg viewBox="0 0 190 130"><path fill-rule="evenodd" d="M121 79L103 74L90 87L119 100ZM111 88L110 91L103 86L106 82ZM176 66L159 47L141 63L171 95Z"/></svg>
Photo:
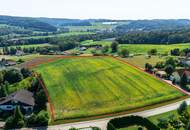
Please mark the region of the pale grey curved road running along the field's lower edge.
<svg viewBox="0 0 190 130"><path fill-rule="evenodd" d="M60 125L48 126L47 128L33 128L31 130L68 130L71 127L83 128L83 127L89 127L89 126L96 126L96 127L101 128L102 130L106 130L107 123L112 118L129 116L129 115L138 115L138 116L143 116L143 117L149 117L149 116L165 113L168 111L176 110L183 101L186 101L187 104L190 105L190 98L187 98L185 100L178 101L178 102L172 103L172 104L168 104L166 106L153 108L153 109L145 110L145 111L141 111L141 112L125 114L122 116L114 116L114 117L110 117L110 118L102 118L102 119L96 119L96 120L91 120L91 121L82 121L82 122L76 122L76 123L60 124ZM26 130L26 129L23 129L23 130ZM27 128L27 130L29 130L29 129Z"/></svg>

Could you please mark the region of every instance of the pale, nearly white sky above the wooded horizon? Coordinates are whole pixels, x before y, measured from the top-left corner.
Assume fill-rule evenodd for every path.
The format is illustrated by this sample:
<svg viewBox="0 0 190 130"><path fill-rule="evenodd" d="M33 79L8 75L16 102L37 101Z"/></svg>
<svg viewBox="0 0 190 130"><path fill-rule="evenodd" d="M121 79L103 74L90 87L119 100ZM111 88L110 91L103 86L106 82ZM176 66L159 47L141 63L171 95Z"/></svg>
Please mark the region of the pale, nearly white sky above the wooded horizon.
<svg viewBox="0 0 190 130"><path fill-rule="evenodd" d="M0 15L79 19L190 19L190 0L0 0Z"/></svg>

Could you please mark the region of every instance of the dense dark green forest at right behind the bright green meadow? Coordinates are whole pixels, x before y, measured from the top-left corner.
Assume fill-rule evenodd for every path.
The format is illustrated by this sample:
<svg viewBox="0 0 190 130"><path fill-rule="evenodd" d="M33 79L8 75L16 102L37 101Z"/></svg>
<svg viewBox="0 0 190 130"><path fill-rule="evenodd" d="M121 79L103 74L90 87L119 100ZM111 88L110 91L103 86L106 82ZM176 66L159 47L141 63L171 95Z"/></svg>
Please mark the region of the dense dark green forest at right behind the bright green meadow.
<svg viewBox="0 0 190 130"><path fill-rule="evenodd" d="M120 44L174 44L190 42L190 29L167 31L136 31L116 39Z"/></svg>

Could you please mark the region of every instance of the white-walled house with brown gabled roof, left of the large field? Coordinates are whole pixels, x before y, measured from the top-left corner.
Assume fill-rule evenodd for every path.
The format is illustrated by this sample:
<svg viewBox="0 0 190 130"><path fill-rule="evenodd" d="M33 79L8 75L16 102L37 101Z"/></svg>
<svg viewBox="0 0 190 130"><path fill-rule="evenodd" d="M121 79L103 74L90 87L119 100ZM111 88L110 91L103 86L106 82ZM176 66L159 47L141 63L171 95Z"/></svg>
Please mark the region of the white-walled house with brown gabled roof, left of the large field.
<svg viewBox="0 0 190 130"><path fill-rule="evenodd" d="M26 112L32 112L35 105L33 93L22 89L14 92L7 97L0 98L0 109L4 111L11 111L20 106Z"/></svg>

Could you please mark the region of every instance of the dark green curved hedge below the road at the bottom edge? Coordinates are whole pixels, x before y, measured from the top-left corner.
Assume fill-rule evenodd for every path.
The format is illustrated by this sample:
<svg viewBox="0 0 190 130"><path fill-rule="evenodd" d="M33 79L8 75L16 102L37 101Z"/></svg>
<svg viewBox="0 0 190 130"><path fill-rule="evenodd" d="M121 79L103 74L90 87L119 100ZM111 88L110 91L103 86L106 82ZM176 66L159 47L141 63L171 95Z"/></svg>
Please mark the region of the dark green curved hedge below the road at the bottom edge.
<svg viewBox="0 0 190 130"><path fill-rule="evenodd" d="M146 127L148 130L160 130L155 124L150 122L148 119L140 117L140 116L128 116L111 119L108 122L107 130L116 130L120 128L126 128L129 126L138 125L142 127Z"/></svg>

